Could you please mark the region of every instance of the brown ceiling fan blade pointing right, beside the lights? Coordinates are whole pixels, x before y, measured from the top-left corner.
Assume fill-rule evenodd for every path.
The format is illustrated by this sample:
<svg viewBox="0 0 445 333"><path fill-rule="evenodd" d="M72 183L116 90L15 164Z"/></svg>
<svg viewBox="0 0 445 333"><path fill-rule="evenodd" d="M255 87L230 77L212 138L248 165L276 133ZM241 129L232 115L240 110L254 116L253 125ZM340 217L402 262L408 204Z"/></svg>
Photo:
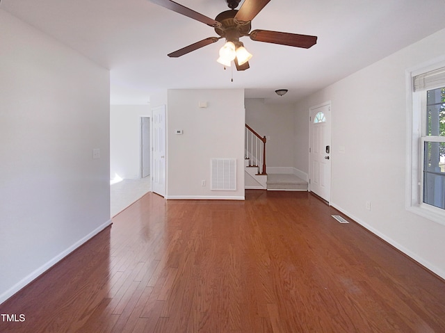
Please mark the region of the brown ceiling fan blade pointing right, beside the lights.
<svg viewBox="0 0 445 333"><path fill-rule="evenodd" d="M257 42L289 45L290 47L303 47L309 49L317 42L316 36L298 35L297 33L282 33L279 31L254 30L250 39Z"/></svg>

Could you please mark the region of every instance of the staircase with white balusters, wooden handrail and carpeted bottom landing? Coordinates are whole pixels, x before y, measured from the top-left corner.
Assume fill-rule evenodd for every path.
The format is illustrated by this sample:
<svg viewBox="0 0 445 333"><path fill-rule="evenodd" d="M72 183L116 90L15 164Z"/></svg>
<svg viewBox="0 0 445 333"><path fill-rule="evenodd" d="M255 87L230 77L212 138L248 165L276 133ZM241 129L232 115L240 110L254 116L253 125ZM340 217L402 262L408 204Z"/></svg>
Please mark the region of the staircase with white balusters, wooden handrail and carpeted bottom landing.
<svg viewBox="0 0 445 333"><path fill-rule="evenodd" d="M307 181L295 174L266 173L266 136L245 124L244 187L259 190L307 190Z"/></svg>

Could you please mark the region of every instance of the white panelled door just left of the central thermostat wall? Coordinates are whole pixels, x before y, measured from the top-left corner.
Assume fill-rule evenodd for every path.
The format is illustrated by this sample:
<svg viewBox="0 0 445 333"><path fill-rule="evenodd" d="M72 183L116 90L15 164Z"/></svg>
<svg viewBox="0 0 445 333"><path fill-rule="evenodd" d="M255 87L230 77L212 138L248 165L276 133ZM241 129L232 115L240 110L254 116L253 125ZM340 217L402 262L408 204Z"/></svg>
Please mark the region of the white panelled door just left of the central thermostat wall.
<svg viewBox="0 0 445 333"><path fill-rule="evenodd" d="M165 197L165 106L152 110L152 190Z"/></svg>

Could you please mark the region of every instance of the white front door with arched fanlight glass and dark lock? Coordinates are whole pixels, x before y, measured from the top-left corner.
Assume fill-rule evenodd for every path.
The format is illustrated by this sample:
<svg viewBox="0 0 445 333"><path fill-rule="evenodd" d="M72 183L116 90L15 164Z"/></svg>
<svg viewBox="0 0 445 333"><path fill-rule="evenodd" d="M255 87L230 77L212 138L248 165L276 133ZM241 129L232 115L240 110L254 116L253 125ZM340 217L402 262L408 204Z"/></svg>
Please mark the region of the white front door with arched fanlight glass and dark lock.
<svg viewBox="0 0 445 333"><path fill-rule="evenodd" d="M309 190L331 199L331 104L309 110Z"/></svg>

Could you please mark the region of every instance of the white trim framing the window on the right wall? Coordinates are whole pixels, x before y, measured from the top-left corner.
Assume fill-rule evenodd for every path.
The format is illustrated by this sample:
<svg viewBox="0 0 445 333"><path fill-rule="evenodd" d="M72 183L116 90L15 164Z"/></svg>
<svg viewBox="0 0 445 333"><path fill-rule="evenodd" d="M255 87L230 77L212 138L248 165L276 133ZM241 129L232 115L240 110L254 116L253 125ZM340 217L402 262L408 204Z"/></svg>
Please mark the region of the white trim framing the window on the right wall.
<svg viewBox="0 0 445 333"><path fill-rule="evenodd" d="M419 110L421 104L425 103L421 98L416 98L412 92L413 78L416 75L437 70L445 67L445 56L431 60L428 63L412 67L406 71L406 92L407 92L407 124L406 124L406 181L405 181L405 206L407 211L411 211L423 218L428 218L441 225L445 225L445 210L424 204L422 200L423 188L422 184L422 163L423 163L423 146L422 131L425 127L422 113L414 115L414 105Z"/></svg>

